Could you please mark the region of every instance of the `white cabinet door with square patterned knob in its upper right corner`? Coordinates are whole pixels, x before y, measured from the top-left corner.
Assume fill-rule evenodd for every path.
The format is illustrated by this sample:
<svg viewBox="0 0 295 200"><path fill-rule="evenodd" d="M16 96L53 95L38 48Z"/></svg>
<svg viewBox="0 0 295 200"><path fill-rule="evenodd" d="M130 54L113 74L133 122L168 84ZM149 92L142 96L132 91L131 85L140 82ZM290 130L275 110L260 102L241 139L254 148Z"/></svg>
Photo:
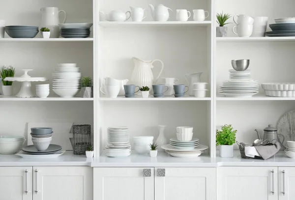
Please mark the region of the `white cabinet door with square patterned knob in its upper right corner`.
<svg viewBox="0 0 295 200"><path fill-rule="evenodd" d="M153 168L94 168L94 200L153 200Z"/></svg>

